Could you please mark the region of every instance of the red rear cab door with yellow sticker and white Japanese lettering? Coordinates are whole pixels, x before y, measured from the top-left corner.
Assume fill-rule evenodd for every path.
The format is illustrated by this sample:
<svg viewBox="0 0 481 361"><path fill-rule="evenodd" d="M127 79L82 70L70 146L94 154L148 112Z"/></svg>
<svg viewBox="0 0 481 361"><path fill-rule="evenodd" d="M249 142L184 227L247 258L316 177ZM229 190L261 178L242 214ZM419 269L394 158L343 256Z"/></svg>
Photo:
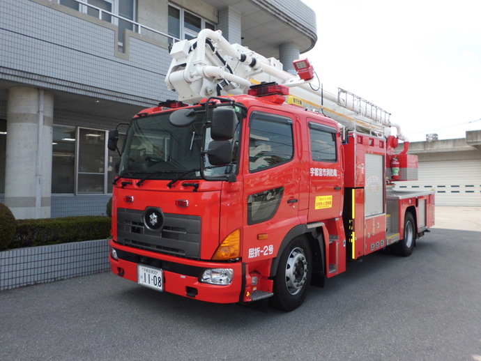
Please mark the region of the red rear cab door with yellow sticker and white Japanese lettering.
<svg viewBox="0 0 481 361"><path fill-rule="evenodd" d="M344 174L337 128L321 120L307 118L310 143L309 222L342 215Z"/></svg>

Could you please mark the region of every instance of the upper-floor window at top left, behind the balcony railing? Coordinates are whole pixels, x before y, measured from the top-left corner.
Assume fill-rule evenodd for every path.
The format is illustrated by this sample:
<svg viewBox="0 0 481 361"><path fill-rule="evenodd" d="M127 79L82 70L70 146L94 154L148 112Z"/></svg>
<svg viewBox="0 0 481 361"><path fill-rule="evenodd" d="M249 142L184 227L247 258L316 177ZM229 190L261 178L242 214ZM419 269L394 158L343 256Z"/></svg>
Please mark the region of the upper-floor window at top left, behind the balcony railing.
<svg viewBox="0 0 481 361"><path fill-rule="evenodd" d="M59 3L69 8L79 10L98 19L111 22L119 26L119 45L123 45L123 33L126 29L134 30L135 0L59 0ZM119 16L115 16L119 15Z"/></svg>

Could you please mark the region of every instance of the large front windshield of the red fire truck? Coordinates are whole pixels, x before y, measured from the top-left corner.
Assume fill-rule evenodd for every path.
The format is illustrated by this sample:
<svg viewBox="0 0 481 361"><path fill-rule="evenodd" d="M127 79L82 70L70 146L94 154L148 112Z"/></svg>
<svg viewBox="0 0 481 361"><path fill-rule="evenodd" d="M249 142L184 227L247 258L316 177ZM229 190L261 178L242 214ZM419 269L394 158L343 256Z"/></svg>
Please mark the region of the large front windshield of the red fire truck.
<svg viewBox="0 0 481 361"><path fill-rule="evenodd" d="M130 178L148 176L151 179L170 180L178 176L187 179L201 178L201 149L207 149L212 140L210 128L204 128L204 110L203 107L196 109L194 122L184 127L176 127L170 123L171 112L134 119L125 139L119 174ZM211 109L209 113L211 114ZM238 119L241 118L241 112L237 114ZM238 148L238 125L239 123L232 139L234 160ZM206 160L204 167L204 174L207 176L235 174L237 171L235 161L227 166L214 167Z"/></svg>

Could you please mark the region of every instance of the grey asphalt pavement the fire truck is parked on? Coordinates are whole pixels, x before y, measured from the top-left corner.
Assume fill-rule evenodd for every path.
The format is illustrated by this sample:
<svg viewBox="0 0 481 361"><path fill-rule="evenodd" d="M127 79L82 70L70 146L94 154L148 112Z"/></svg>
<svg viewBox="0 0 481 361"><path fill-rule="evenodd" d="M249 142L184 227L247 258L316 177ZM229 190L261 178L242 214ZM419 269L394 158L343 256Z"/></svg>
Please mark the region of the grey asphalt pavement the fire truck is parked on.
<svg viewBox="0 0 481 361"><path fill-rule="evenodd" d="M408 258L365 256L299 309L264 311L109 272L1 291L0 360L480 361L481 232L432 229Z"/></svg>

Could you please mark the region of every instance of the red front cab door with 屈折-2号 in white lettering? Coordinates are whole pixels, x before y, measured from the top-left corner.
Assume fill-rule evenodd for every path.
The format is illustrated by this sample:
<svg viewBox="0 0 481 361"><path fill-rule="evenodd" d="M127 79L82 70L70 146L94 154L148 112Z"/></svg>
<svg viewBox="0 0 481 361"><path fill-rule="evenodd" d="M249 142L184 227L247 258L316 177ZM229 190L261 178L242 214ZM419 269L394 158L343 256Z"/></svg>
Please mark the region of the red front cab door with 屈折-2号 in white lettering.
<svg viewBox="0 0 481 361"><path fill-rule="evenodd" d="M243 253L247 260L272 258L298 224L299 161L295 118L264 109L250 112L244 138Z"/></svg>

